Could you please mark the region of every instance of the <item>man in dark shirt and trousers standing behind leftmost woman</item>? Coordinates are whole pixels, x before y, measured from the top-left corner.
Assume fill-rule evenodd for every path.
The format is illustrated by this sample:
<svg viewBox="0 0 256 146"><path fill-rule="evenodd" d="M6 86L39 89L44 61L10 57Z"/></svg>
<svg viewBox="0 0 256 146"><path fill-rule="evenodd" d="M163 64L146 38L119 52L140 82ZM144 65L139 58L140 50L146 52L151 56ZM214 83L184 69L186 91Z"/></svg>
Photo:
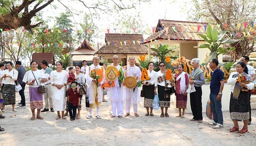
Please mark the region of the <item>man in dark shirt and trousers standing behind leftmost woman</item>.
<svg viewBox="0 0 256 146"><path fill-rule="evenodd" d="M19 90L18 93L20 95L20 97L22 98L22 101L19 104L18 107L26 107L26 100L25 100L25 93L24 93L24 90L25 90L25 86L26 86L26 83L23 82L23 78L24 78L24 75L25 73L27 72L26 68L22 66L22 62L20 61L16 61L16 67L17 67L17 71L18 71L18 83L20 86L22 86L22 90Z"/></svg>

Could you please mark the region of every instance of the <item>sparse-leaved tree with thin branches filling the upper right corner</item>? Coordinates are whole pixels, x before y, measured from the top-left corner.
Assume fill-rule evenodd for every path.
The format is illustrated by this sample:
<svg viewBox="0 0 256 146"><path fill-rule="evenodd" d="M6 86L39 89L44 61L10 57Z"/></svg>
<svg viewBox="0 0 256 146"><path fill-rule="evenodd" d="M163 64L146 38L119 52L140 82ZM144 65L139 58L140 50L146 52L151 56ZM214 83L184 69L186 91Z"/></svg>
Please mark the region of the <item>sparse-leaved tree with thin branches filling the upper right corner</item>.
<svg viewBox="0 0 256 146"><path fill-rule="evenodd" d="M222 31L227 30L227 35L232 39L241 39L239 43L230 44L236 48L235 60L253 52L255 29L250 24L247 27L240 25L255 20L255 0L193 0L193 3L194 7L188 11L190 20L219 25Z"/></svg>

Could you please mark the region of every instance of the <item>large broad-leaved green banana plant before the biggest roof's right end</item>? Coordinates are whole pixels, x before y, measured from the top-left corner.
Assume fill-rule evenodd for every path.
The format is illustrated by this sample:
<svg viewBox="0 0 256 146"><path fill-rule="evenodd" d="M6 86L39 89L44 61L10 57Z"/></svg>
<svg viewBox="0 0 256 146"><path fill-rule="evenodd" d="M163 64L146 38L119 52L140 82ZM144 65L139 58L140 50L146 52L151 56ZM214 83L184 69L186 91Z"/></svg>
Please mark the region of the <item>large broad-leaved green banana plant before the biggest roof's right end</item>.
<svg viewBox="0 0 256 146"><path fill-rule="evenodd" d="M234 51L236 48L235 47L227 47L223 48L222 45L224 44L231 44L234 42L240 41L240 39L231 39L226 35L227 31L222 31L220 34L218 34L218 30L216 27L213 29L211 28L210 25L207 26L206 29L206 35L205 34L198 34L201 36L204 41L207 43L201 44L200 46L196 46L199 48L209 48L210 53L207 62L209 62L211 59L218 59L218 56L220 54L225 54L229 51Z"/></svg>

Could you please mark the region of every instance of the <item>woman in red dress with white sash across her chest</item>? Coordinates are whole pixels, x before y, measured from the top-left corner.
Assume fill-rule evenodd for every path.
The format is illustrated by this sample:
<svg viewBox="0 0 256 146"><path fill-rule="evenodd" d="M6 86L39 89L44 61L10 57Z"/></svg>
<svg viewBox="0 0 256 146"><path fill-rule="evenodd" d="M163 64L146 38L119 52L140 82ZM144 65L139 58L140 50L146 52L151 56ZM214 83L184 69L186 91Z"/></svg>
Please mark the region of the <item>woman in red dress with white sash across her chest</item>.
<svg viewBox="0 0 256 146"><path fill-rule="evenodd" d="M176 118L184 118L185 109L187 108L187 88L189 83L189 77L186 72L183 71L184 66L180 64L178 66L178 74L175 74L175 88L176 88L176 108L179 109L179 115ZM181 114L182 109L182 114Z"/></svg>

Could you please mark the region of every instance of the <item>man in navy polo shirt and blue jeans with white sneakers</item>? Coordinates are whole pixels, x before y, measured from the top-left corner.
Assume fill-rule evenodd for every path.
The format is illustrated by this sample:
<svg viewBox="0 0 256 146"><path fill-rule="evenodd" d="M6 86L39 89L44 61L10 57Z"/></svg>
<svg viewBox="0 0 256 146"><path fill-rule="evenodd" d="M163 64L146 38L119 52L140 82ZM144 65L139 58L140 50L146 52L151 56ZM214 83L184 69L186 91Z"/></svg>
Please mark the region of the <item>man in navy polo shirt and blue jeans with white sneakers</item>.
<svg viewBox="0 0 256 146"><path fill-rule="evenodd" d="M224 73L218 67L219 61L212 59L210 61L210 68L212 69L211 82L210 82L210 107L214 114L214 121L209 122L209 125L214 126L213 128L223 128L223 114L222 114L222 90L224 88Z"/></svg>

